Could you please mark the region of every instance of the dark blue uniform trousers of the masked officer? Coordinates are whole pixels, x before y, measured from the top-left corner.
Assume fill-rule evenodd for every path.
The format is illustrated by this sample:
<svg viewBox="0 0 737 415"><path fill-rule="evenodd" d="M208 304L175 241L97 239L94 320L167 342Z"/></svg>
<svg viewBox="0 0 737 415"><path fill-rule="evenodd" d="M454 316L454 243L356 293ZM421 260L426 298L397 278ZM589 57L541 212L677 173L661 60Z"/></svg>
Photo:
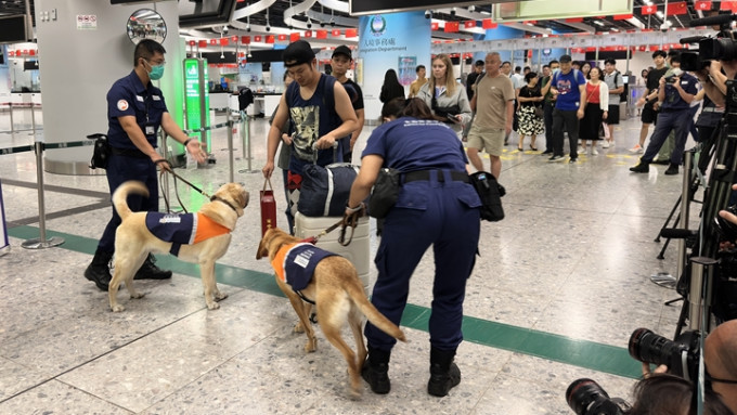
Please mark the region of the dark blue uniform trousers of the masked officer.
<svg viewBox="0 0 737 415"><path fill-rule="evenodd" d="M132 211L158 211L158 180L156 178L156 165L150 158L127 157L113 154L107 164L107 184L111 189L111 197L118 186L129 180L143 182L148 189L148 197L139 195L128 196L128 206ZM115 231L121 220L113 207L113 218L107 222L105 231L100 238L98 249L115 251Z"/></svg>

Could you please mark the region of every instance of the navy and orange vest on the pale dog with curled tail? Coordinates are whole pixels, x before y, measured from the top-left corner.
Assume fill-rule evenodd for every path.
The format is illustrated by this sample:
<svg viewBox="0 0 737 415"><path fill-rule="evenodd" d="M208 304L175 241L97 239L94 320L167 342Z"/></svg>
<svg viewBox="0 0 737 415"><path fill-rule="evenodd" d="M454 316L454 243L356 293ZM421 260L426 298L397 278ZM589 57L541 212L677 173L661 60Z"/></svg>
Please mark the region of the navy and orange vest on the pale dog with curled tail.
<svg viewBox="0 0 737 415"><path fill-rule="evenodd" d="M203 213L146 213L146 228L161 241L170 242L169 254L179 256L182 244L193 245L231 231Z"/></svg>

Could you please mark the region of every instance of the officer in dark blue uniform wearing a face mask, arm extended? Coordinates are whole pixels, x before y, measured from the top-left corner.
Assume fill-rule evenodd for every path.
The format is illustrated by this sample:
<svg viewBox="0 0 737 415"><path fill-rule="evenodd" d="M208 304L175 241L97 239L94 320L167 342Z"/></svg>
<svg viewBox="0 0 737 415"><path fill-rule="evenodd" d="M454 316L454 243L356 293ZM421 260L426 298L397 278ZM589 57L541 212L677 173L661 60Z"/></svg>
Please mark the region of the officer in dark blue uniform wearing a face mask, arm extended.
<svg viewBox="0 0 737 415"><path fill-rule="evenodd" d="M142 40L133 54L133 70L118 79L107 92L107 139L112 155L107 165L107 184L111 195L126 181L138 180L148 187L148 197L130 196L128 205L133 211L158 210L158 183L156 165L164 158L156 152L158 128L184 144L186 151L197 160L205 161L205 153L199 142L190 139L171 118L164 102L161 90L151 81L164 75L164 47L151 39ZM94 282L98 288L106 291L111 281L108 263L115 251L115 231L120 217L113 209L113 218L98 244L94 258L85 270L85 277ZM148 256L135 274L137 280L163 280L171 277L171 271L163 271Z"/></svg>

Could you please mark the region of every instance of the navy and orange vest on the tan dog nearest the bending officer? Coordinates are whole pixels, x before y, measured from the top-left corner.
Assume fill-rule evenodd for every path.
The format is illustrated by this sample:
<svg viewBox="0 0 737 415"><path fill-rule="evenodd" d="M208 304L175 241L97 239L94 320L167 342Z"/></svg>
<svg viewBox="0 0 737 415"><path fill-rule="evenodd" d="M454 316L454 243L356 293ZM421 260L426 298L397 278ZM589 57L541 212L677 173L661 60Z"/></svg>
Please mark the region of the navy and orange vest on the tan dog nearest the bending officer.
<svg viewBox="0 0 737 415"><path fill-rule="evenodd" d="M276 275L285 283L289 284L303 300L307 300L300 293L312 281L314 268L318 262L324 258L337 256L337 254L328 252L320 249L310 243L295 243L284 245L279 249L274 259L271 260Z"/></svg>

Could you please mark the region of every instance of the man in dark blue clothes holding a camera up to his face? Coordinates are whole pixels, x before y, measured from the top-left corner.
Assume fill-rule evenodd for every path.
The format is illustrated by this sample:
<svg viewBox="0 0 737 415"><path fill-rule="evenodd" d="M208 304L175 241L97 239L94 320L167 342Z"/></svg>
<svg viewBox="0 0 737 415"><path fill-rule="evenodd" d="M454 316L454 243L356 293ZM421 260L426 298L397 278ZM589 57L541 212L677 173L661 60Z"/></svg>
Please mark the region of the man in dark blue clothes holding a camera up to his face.
<svg viewBox="0 0 737 415"><path fill-rule="evenodd" d="M673 56L671 65L673 66L673 75L660 78L658 103L656 104L660 107L660 112L655 132L650 137L650 143L647 145L643 157L641 157L639 164L631 167L630 171L636 173L647 173L650 171L650 163L652 163L665 139L668 139L671 130L675 130L675 148L671 154L670 166L665 170L665 174L678 173L678 166L683 159L683 151L688 138L689 120L693 119L693 115L689 114L690 103L694 101L694 95L698 92L698 80L696 77L681 70L680 56Z"/></svg>

